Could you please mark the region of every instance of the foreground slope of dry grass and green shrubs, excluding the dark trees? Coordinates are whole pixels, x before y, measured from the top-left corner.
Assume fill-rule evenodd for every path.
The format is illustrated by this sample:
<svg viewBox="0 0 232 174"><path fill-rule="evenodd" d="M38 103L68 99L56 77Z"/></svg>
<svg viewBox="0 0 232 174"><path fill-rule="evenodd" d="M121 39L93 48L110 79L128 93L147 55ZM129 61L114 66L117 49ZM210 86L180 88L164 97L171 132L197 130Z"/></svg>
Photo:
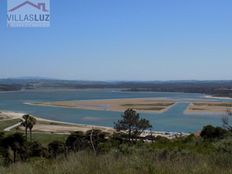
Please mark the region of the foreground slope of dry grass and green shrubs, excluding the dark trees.
<svg viewBox="0 0 232 174"><path fill-rule="evenodd" d="M48 146L49 149L49 146ZM91 146L68 154L31 157L24 162L0 167L9 174L141 174L141 173L232 173L232 136L202 138L193 135L153 143L119 143L111 138L101 143L95 155ZM51 144L49 153L52 153ZM50 154L51 155L51 154Z"/></svg>

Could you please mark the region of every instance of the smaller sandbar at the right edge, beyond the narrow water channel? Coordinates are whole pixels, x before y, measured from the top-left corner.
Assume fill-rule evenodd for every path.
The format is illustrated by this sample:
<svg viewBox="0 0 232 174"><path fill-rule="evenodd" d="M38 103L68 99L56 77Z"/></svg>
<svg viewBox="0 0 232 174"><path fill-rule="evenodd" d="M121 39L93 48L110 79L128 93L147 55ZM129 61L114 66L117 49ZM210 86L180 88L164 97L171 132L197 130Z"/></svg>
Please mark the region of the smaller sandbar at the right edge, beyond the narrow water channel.
<svg viewBox="0 0 232 174"><path fill-rule="evenodd" d="M196 102L191 103L187 113L225 113L232 109L231 102Z"/></svg>

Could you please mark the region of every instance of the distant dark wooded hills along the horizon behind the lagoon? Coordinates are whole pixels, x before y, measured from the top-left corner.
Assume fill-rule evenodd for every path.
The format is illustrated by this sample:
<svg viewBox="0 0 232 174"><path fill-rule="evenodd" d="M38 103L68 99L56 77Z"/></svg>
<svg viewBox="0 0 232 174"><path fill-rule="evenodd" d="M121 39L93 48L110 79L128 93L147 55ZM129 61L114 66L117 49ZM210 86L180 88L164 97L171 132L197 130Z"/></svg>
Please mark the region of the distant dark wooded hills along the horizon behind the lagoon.
<svg viewBox="0 0 232 174"><path fill-rule="evenodd" d="M232 97L232 81L75 81L41 78L0 79L0 91L119 88L124 91L203 93Z"/></svg>

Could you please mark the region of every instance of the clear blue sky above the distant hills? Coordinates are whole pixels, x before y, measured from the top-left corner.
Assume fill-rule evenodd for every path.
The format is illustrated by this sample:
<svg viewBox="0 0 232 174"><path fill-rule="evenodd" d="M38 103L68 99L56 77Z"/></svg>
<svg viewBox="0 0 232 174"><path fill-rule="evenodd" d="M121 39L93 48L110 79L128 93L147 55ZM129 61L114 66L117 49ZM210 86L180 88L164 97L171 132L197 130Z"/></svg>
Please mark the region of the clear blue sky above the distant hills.
<svg viewBox="0 0 232 174"><path fill-rule="evenodd" d="M51 0L49 28L7 28L0 78L231 80L231 0Z"/></svg>

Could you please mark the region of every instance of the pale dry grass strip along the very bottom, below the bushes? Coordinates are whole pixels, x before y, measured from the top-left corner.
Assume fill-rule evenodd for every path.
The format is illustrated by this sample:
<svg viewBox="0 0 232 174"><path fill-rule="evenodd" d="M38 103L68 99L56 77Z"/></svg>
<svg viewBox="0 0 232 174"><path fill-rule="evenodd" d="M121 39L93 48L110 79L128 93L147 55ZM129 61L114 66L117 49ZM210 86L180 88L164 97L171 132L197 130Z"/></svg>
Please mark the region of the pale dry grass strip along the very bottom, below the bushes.
<svg viewBox="0 0 232 174"><path fill-rule="evenodd" d="M225 163L218 163L218 158ZM79 152L67 159L40 159L35 162L12 165L10 168L0 168L4 174L230 174L227 156L185 155L181 158L169 156L166 159L153 153L137 152L132 155L108 153L94 156L91 153Z"/></svg>

